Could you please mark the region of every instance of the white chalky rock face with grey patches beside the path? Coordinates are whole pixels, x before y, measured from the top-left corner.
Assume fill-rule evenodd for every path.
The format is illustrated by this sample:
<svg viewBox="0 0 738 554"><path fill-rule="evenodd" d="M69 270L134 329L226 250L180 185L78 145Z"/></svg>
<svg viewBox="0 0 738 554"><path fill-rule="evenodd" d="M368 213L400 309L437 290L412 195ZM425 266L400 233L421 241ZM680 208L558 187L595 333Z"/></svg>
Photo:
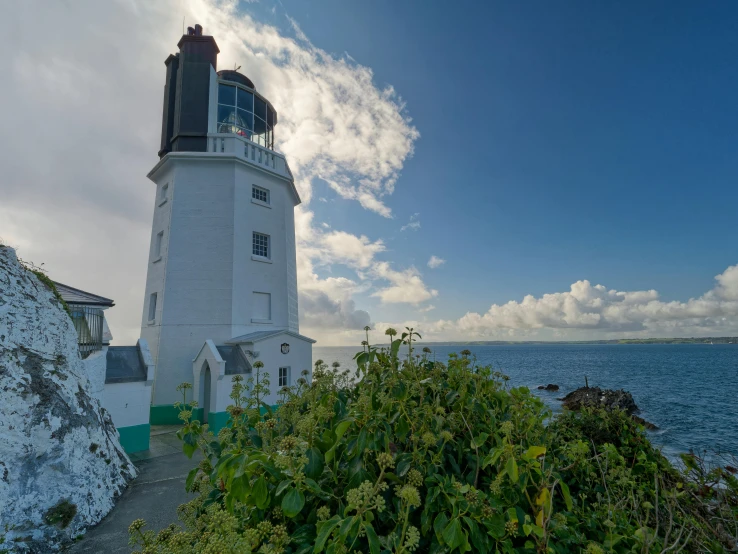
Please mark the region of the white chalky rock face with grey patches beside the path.
<svg viewBox="0 0 738 554"><path fill-rule="evenodd" d="M58 550L135 476L91 393L72 320L0 246L0 551Z"/></svg>

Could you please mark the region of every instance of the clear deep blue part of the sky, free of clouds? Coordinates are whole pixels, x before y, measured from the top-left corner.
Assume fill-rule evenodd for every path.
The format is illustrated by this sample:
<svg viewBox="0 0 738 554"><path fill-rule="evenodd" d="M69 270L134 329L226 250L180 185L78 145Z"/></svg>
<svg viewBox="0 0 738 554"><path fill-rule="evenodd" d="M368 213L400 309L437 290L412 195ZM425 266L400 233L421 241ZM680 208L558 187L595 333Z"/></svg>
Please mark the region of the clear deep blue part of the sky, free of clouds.
<svg viewBox="0 0 738 554"><path fill-rule="evenodd" d="M585 278L686 299L736 262L735 4L283 4L392 84L421 134L397 219L320 185L316 216L395 259L445 258L425 280L446 317Z"/></svg>

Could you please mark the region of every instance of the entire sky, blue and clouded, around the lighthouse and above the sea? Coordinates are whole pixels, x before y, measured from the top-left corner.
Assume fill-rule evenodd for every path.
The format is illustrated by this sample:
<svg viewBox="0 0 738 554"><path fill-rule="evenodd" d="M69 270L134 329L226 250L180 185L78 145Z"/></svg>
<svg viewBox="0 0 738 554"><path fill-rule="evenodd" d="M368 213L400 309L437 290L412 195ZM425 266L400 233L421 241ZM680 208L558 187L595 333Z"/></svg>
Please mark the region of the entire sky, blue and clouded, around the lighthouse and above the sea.
<svg viewBox="0 0 738 554"><path fill-rule="evenodd" d="M434 340L738 334L735 3L84 0L43 13L3 13L18 134L0 154L0 236L115 298L129 342L162 62L183 16L280 112L277 148L304 199L301 329L322 344L355 344L366 323ZM47 146L46 165L29 143ZM82 274L70 253L84 256L90 221L64 216L80 205L102 247Z"/></svg>

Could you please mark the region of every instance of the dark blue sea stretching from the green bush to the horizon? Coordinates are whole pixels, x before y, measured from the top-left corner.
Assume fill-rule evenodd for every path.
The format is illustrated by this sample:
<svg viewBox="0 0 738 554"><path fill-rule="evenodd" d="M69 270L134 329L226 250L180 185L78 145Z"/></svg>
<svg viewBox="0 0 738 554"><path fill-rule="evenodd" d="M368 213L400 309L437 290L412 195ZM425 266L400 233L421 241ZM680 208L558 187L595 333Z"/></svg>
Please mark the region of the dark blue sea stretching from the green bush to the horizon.
<svg viewBox="0 0 738 554"><path fill-rule="evenodd" d="M404 350L405 347L403 347ZM469 349L481 365L528 387L554 412L561 398L589 385L625 389L641 417L656 424L651 441L669 458L694 451L738 456L738 345L735 344L512 344L431 345L436 359ZM313 361L355 369L357 347L313 348ZM557 392L538 385L559 385Z"/></svg>

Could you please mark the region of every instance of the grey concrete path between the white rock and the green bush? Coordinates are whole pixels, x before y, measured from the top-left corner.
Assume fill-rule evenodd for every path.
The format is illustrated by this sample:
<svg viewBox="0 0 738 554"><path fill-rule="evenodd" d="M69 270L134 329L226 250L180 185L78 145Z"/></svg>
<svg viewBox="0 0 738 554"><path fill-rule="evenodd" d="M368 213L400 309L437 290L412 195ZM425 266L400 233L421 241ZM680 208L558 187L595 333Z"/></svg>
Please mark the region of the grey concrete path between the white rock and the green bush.
<svg viewBox="0 0 738 554"><path fill-rule="evenodd" d="M153 531L178 523L177 506L194 496L185 492L185 479L202 459L199 453L191 460L182 453L182 443L174 434L178 428L152 428L150 449L131 456L138 477L105 519L88 529L68 552L130 554L128 526L134 519L145 519L145 529Z"/></svg>

